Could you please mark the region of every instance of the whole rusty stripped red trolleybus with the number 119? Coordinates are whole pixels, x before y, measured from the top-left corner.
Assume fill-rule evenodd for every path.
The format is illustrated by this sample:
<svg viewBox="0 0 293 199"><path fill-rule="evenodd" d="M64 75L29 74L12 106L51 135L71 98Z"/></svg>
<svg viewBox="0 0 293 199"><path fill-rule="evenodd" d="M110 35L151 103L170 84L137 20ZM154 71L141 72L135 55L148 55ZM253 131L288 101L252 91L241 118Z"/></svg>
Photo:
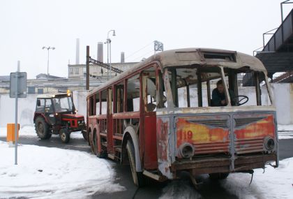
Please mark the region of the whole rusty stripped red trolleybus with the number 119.
<svg viewBox="0 0 293 199"><path fill-rule="evenodd" d="M244 74L254 85L247 94L238 80ZM211 89L218 80L227 105L217 107ZM220 179L271 161L278 166L266 69L240 52L188 48L154 54L93 89L87 121L93 153L130 164L137 186L145 176L163 181L187 171Z"/></svg>

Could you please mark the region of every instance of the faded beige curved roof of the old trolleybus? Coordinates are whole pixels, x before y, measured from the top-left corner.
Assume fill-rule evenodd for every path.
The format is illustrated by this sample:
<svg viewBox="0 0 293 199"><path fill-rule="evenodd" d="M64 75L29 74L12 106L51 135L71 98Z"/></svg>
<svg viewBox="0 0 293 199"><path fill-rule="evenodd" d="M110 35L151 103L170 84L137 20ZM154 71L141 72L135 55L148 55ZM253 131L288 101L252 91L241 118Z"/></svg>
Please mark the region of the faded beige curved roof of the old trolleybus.
<svg viewBox="0 0 293 199"><path fill-rule="evenodd" d="M153 54L151 57L144 61L135 64L128 71L124 71L117 77L105 82L105 84L97 87L89 92L88 96L95 94L96 91L109 87L115 82L126 78L126 76L140 71L141 68L151 63L158 63L162 68L202 65L202 66L223 66L226 68L242 68L248 66L253 71L262 71L266 74L266 68L260 59L241 52L220 50L211 48L183 48L175 50L166 50L158 54Z"/></svg>

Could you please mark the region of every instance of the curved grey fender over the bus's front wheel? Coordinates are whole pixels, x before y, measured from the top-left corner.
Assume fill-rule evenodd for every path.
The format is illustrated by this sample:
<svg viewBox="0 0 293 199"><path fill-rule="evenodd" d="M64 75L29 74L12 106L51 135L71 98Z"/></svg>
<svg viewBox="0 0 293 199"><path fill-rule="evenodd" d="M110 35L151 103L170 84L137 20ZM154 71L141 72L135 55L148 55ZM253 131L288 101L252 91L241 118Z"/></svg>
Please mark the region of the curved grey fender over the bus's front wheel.
<svg viewBox="0 0 293 199"><path fill-rule="evenodd" d="M142 163L140 161L140 148L138 147L138 137L133 126L127 126L123 133L122 146L127 144L128 136L130 136L133 147L135 149L135 168L137 172L142 172Z"/></svg>

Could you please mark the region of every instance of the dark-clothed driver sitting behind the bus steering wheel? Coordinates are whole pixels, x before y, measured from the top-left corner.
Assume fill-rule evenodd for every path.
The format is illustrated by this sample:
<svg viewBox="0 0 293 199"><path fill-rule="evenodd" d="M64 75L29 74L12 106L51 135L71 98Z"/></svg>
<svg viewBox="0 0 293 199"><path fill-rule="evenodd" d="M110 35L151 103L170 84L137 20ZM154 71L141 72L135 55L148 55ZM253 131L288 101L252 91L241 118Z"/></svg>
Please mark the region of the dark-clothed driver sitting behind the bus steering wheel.
<svg viewBox="0 0 293 199"><path fill-rule="evenodd" d="M231 99L231 104L235 105L234 92L229 89L229 95ZM213 89L211 94L211 106L225 106L227 105L227 99L225 96L225 87L223 80L218 80L216 89Z"/></svg>

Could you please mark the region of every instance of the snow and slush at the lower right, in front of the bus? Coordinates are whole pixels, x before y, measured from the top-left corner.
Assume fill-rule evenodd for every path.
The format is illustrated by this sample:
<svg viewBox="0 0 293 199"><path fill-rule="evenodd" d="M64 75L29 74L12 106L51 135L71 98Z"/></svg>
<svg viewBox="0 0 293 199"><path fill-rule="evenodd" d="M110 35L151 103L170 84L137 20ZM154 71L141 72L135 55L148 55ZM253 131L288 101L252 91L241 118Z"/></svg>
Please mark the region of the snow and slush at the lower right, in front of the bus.
<svg viewBox="0 0 293 199"><path fill-rule="evenodd" d="M220 186L239 199L290 199L293 196L293 158L280 161L276 169L268 165L264 173L262 169L256 169L249 186L250 179L249 174L234 173L220 181ZM173 181L163 189L160 197L167 198L204 197L189 182Z"/></svg>

